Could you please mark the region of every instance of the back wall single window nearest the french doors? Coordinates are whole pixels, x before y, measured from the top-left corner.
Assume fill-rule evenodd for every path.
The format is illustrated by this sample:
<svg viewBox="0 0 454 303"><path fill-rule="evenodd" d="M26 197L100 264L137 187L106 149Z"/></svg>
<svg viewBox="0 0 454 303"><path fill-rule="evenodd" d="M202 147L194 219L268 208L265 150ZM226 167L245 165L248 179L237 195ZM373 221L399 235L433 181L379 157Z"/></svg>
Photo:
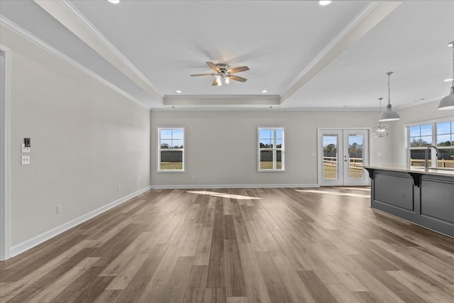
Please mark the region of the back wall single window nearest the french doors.
<svg viewBox="0 0 454 303"><path fill-rule="evenodd" d="M284 128L258 128L258 171L284 170Z"/></svg>

